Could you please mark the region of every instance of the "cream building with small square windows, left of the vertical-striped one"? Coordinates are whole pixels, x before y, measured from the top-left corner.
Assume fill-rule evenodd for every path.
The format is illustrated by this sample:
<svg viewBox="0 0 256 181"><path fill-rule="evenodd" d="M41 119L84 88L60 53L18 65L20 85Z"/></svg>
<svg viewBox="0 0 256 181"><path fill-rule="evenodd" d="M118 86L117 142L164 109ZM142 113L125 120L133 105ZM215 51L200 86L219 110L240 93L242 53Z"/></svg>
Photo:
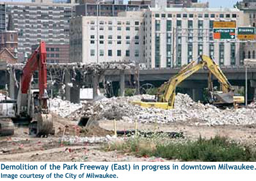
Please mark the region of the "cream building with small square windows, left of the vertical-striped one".
<svg viewBox="0 0 256 181"><path fill-rule="evenodd" d="M125 12L122 15L99 17L98 26L97 17L72 19L70 24L71 61L143 62L143 12ZM99 52L97 52L97 43L99 43Z"/></svg>

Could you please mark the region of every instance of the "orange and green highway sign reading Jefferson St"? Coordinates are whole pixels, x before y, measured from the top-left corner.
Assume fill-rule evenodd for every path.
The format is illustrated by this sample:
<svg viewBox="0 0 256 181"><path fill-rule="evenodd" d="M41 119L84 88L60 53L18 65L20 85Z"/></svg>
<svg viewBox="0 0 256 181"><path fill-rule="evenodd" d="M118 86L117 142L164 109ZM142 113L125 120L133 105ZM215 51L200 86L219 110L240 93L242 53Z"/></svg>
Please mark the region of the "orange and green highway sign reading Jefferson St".
<svg viewBox="0 0 256 181"><path fill-rule="evenodd" d="M234 28L214 28L213 29L213 38L215 40L224 40L224 39L236 39L236 29Z"/></svg>

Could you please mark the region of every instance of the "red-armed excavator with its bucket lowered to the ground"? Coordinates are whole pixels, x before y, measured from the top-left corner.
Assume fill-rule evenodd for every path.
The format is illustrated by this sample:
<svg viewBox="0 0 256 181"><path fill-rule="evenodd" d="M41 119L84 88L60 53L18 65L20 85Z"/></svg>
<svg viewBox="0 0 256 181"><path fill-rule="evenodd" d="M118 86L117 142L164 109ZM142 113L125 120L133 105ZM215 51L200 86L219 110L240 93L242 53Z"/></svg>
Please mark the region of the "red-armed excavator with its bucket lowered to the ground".
<svg viewBox="0 0 256 181"><path fill-rule="evenodd" d="M31 82L36 70L38 70L39 89L33 90L31 88ZM9 100L9 102L12 102L12 105L9 105L7 112L11 112L12 114L6 114L4 118L11 118L14 123L18 124L28 123L29 134L32 136L54 134L46 89L46 49L45 42L40 42L40 45L33 52L22 70L17 101ZM2 106L4 107L4 105Z"/></svg>

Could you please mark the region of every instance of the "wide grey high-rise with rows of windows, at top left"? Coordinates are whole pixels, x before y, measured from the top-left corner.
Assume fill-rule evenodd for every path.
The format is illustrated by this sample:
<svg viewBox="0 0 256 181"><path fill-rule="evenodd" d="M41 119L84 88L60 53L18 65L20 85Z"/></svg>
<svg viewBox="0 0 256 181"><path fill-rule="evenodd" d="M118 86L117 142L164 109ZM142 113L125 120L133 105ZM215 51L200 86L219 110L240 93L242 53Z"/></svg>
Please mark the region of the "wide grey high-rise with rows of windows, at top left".
<svg viewBox="0 0 256 181"><path fill-rule="evenodd" d="M75 13L73 5L47 2L0 3L6 12L6 28L6 22L9 22L13 30L18 32L20 61L23 61L25 54L30 54L31 45L37 44L40 40L47 44L69 43L70 18Z"/></svg>

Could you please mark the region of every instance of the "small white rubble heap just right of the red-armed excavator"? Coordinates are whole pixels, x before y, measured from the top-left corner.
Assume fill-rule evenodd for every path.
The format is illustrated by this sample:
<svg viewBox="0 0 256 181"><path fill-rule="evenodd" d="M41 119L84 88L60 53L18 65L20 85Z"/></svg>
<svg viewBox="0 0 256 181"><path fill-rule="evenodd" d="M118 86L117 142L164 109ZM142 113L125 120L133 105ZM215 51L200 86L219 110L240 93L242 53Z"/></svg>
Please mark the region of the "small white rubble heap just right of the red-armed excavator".
<svg viewBox="0 0 256 181"><path fill-rule="evenodd" d="M53 98L50 102L52 113L58 114L63 118L83 107L83 104L74 104L68 100L61 100L61 98Z"/></svg>

